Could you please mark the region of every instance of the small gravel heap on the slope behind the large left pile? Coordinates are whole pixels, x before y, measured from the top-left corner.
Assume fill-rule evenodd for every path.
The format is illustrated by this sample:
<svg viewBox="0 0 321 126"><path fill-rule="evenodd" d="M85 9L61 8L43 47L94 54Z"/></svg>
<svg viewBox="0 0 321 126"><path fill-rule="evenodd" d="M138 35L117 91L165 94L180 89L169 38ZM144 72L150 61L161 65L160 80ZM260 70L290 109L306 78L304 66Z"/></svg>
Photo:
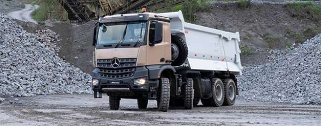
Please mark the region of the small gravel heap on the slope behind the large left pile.
<svg viewBox="0 0 321 126"><path fill-rule="evenodd" d="M60 47L57 46L58 42L61 42L59 35L51 30L37 30L37 40L49 48L51 51L59 52Z"/></svg>

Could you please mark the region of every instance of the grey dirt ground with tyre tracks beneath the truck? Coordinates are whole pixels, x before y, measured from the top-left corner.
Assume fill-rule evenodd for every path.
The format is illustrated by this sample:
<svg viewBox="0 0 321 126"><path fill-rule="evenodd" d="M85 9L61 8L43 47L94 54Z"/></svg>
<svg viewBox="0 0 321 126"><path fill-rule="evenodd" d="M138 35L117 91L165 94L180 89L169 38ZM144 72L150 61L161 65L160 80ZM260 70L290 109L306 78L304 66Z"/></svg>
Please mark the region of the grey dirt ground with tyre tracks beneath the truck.
<svg viewBox="0 0 321 126"><path fill-rule="evenodd" d="M12 102L12 104L10 103ZM134 99L121 99L109 110L108 97L40 95L7 99L0 106L0 126L320 126L321 106L245 101L234 106L157 111L155 100L138 109Z"/></svg>

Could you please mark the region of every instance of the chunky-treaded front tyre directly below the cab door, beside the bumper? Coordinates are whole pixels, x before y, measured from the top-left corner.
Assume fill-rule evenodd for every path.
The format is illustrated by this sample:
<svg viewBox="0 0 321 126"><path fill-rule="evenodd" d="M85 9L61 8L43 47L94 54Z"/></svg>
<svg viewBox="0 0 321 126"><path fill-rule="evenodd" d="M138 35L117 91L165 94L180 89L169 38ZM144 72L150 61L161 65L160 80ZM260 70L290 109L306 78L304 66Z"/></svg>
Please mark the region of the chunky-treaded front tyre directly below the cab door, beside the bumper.
<svg viewBox="0 0 321 126"><path fill-rule="evenodd" d="M160 79L160 90L159 90L159 104L158 110L167 112L169 107L169 96L170 96L170 83L168 78L162 77Z"/></svg>

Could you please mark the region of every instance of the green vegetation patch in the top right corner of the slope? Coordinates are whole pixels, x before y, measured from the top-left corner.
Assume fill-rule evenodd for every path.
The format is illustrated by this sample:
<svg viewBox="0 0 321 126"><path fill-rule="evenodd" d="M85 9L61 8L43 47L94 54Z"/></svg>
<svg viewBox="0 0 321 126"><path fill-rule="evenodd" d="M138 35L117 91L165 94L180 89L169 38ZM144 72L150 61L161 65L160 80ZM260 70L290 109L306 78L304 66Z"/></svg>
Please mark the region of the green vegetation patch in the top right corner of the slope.
<svg viewBox="0 0 321 126"><path fill-rule="evenodd" d="M308 18L317 22L321 20L321 5L315 5L313 1L288 2L285 6L292 9L294 17Z"/></svg>

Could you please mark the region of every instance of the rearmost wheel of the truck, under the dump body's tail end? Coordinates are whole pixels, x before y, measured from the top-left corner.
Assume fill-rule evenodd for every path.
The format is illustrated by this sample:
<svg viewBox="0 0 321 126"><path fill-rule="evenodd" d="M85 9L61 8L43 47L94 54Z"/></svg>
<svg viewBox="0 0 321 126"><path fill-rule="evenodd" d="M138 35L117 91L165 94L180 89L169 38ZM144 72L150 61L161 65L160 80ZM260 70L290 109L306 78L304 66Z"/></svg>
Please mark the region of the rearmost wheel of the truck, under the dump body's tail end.
<svg viewBox="0 0 321 126"><path fill-rule="evenodd" d="M234 105L235 103L235 100L236 100L236 86L235 86L235 83L232 79L224 79L223 80L223 83L224 83L224 89L225 89L225 98L224 98L224 103L223 105ZM233 90L232 92L234 93L231 93L230 91L230 86L233 86ZM233 95L231 98L230 95Z"/></svg>

